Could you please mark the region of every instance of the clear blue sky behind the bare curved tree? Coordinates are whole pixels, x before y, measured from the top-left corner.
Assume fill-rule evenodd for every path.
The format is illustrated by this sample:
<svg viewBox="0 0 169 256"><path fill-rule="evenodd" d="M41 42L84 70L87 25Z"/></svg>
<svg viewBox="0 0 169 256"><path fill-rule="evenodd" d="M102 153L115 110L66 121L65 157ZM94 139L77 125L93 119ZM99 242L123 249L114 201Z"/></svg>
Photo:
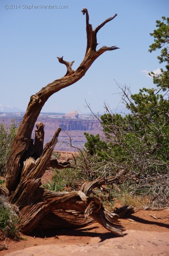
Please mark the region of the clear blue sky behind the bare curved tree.
<svg viewBox="0 0 169 256"><path fill-rule="evenodd" d="M12 4L17 9L5 9ZM68 7L25 8L40 4ZM168 0L1 0L0 104L25 110L32 94L65 75L66 67L57 56L75 60L74 70L79 66L86 51L83 7L88 9L93 28L117 13L98 32L97 49L103 45L120 49L103 53L80 81L55 93L42 111L67 113L79 109L87 113L85 99L95 112L104 110L104 101L116 108L120 95L114 79L130 85L133 93L154 86L147 72L158 71L162 65L157 60L159 52L148 52L153 43L149 33L155 29L156 20L168 17Z"/></svg>

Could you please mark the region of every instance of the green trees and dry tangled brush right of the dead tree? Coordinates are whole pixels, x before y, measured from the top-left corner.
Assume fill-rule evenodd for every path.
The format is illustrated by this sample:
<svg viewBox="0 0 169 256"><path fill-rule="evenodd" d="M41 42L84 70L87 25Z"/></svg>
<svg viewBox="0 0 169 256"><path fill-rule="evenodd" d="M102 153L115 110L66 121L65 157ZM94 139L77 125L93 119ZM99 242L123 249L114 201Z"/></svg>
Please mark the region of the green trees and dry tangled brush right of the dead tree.
<svg viewBox="0 0 169 256"><path fill-rule="evenodd" d="M130 110L128 115L111 113L105 105L105 114L100 117L87 104L100 121L104 137L84 133L87 142L79 151L74 168L82 173L81 183L84 179L93 181L104 177L101 198L110 204L113 198L122 198L125 203L168 205L169 18L162 17L162 20L156 21L157 29L150 34L155 39L149 51L161 49L157 58L159 63L166 63L160 74L149 74L156 86L132 94L130 88L117 83L122 102ZM108 182L110 176L119 179Z"/></svg>

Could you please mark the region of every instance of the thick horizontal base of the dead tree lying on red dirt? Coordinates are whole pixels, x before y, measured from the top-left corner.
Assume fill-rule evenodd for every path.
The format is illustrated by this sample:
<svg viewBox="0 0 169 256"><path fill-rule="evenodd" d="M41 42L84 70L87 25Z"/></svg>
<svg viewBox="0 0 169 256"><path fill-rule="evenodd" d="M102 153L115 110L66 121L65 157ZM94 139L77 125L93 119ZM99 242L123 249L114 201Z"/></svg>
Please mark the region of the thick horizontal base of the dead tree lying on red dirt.
<svg viewBox="0 0 169 256"><path fill-rule="evenodd" d="M38 203L39 200L40 203ZM34 202L36 202L36 205L33 204ZM17 204L18 202L16 203L16 205ZM37 190L35 196L32 195L31 202L27 202L27 205L22 209L20 207L20 214L22 216L20 223L21 231L25 234L29 234L34 228L42 226L44 228L45 225L47 228L49 228L50 226L48 226L46 222L44 222L45 217L49 216L48 214L50 212L56 212L56 210L60 209L62 209L61 216L63 218L63 222L62 224L58 223L58 218L56 218L54 223L55 227L57 228L63 227L63 223L70 221L70 214L66 215L65 212L67 210L73 210L76 211L76 214L78 216L78 212L80 212L80 218L82 218L82 225L87 225L92 222L90 219L84 221L84 217L82 217L84 216L82 215L82 212L84 212L85 217L89 216L117 236L123 236L123 227L114 223L119 218L119 216L116 213L105 210L97 198L87 197L81 191L72 191L70 193L51 192L45 191L41 188ZM75 218L72 218L73 221L70 223L70 226L81 226L77 223L77 215Z"/></svg>

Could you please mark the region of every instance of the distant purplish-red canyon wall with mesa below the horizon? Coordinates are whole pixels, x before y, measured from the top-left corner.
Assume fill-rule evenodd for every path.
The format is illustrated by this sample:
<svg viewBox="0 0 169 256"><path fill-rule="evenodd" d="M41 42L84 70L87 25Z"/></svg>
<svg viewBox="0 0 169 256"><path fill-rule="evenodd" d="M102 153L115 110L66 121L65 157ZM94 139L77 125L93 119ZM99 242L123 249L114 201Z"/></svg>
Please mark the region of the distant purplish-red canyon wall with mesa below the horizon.
<svg viewBox="0 0 169 256"><path fill-rule="evenodd" d="M2 119L4 118L5 123L9 124L11 123L11 119L14 116L12 115L10 117L9 113L7 116L0 116L0 122L2 122ZM77 148L82 148L86 142L86 137L84 135L84 132L92 133L92 134L100 134L103 135L101 124L97 119L93 119L89 117L88 119L84 119L83 116L80 118L64 118L60 116L60 118L50 118L49 116L39 116L37 122L41 122L45 125L44 131L45 131L45 139L44 144L49 142L55 130L58 127L62 128L62 131L60 132L60 136L58 138L58 143L55 146L55 150L60 151L74 151L74 148L70 147L70 138L72 141L72 145ZM86 116L87 118L87 116ZM22 120L22 117L17 117L17 122L20 123ZM34 130L33 129L32 137L34 136Z"/></svg>

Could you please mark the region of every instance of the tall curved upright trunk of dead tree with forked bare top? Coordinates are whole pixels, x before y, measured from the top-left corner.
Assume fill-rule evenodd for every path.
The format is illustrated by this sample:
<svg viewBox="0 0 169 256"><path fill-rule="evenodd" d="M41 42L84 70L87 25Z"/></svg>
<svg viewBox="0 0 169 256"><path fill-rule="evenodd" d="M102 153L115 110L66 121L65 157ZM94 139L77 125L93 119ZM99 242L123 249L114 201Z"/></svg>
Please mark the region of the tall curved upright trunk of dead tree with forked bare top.
<svg viewBox="0 0 169 256"><path fill-rule="evenodd" d="M63 58L58 58L59 61L67 66L67 73L60 79L53 81L52 83L43 87L38 93L31 96L30 102L28 104L26 113L21 121L21 124L18 128L17 136L13 142L11 154L7 163L7 188L11 191L14 191L18 185L18 176L19 176L19 167L22 166L20 163L23 155L25 154L26 149L28 148L31 140L31 134L34 127L34 124L39 116L39 113L44 106L48 98L55 92L60 91L61 89L74 84L81 77L83 77L92 65L92 63L106 51L112 51L118 49L116 46L106 47L103 46L99 50L96 50L97 38L96 34L98 28L102 27L106 22L112 20L110 18L106 22L103 22L100 27L98 26L96 30L92 29L91 24L88 23L88 11L86 8L83 8L83 14L86 13L86 30L87 30L87 50L84 57L84 60L81 62L80 66L72 71L72 62L68 63L64 61ZM115 15L116 16L116 15Z"/></svg>

